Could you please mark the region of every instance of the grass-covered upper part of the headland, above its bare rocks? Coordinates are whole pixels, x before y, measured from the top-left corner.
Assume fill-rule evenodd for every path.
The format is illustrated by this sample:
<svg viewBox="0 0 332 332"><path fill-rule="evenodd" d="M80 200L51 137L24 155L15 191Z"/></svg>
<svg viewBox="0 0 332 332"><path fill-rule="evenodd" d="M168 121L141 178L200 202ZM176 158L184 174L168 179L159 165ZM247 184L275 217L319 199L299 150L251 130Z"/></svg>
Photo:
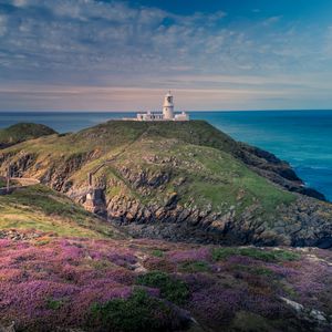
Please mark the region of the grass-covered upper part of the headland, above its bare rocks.
<svg viewBox="0 0 332 332"><path fill-rule="evenodd" d="M187 203L189 196L199 197L197 205L206 205L208 200L214 207L236 204L239 190L247 194L247 204L256 198L263 206L276 207L280 203L293 199L291 194L271 185L252 170L248 169L236 158L240 153L239 145L220 131L206 122L184 123L138 123L108 122L76 134L63 137L42 137L37 142L25 142L11 151L22 151L33 154L39 169L31 169L39 177L49 168L61 168L63 163L79 165L70 174L70 179L80 185L86 184L87 172L98 164L113 158L113 164L106 165L96 175L106 176L108 180L121 179L118 170L128 167L139 173L143 168L147 174L172 172L172 179L159 199L176 190L176 183L180 177L187 180L180 186L181 200ZM151 162L158 159L174 159L172 163ZM13 158L14 160L14 158ZM83 162L83 163L82 163ZM29 174L28 169L28 174ZM55 170L56 172L56 170ZM125 180L124 180L125 181ZM139 197L139 190L132 188L133 195ZM118 188L120 189L120 188ZM116 188L113 186L113 191ZM134 193L136 191L136 193ZM144 198L148 200L151 195ZM246 204L245 204L246 205ZM270 208L270 207L269 207Z"/></svg>

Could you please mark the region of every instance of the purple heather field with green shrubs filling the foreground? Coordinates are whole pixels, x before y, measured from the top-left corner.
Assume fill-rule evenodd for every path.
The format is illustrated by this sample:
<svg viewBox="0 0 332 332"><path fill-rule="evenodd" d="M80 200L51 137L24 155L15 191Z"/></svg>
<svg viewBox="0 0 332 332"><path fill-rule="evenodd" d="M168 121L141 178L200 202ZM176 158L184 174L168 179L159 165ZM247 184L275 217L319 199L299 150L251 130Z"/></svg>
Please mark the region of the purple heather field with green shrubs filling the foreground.
<svg viewBox="0 0 332 332"><path fill-rule="evenodd" d="M331 257L147 239L0 240L0 326L173 331L193 317L206 330L232 331L239 317L255 317L268 331L331 331ZM309 323L281 297L325 321Z"/></svg>

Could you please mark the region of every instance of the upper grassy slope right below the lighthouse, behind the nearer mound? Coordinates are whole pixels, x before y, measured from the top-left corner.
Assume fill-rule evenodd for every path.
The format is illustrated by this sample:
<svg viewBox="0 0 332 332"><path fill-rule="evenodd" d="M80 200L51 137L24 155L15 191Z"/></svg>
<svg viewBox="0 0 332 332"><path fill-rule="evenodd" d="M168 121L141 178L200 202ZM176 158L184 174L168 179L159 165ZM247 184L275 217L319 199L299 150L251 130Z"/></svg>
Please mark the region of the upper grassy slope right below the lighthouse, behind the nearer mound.
<svg viewBox="0 0 332 332"><path fill-rule="evenodd" d="M95 148L101 153L106 153L131 144L142 135L153 139L156 137L177 138L184 143L215 147L229 153L238 149L232 138L204 121L184 123L111 121L75 134L42 137L38 144L25 142L12 149L29 148L37 153L49 149L55 156L84 153Z"/></svg>

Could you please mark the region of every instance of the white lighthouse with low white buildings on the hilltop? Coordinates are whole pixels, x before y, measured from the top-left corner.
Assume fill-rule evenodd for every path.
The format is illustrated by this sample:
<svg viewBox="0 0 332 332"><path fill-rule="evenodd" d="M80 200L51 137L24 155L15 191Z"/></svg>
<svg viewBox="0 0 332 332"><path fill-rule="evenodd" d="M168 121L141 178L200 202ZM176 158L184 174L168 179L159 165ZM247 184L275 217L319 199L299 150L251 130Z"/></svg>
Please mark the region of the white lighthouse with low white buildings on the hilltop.
<svg viewBox="0 0 332 332"><path fill-rule="evenodd" d="M138 113L137 121L189 121L189 115L186 112L179 114L174 113L174 102L170 91L164 97L163 113L147 112Z"/></svg>

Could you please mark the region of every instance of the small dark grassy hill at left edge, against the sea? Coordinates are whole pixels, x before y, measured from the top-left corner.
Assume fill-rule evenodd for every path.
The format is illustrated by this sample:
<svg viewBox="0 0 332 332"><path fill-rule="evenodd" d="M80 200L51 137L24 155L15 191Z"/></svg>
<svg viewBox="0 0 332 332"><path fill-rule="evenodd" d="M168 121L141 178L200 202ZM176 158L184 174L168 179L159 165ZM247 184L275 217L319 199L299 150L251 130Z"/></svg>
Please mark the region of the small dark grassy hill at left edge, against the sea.
<svg viewBox="0 0 332 332"><path fill-rule="evenodd" d="M56 134L56 132L42 124L14 124L8 128L0 129L0 148L11 146L23 141L53 134Z"/></svg>

